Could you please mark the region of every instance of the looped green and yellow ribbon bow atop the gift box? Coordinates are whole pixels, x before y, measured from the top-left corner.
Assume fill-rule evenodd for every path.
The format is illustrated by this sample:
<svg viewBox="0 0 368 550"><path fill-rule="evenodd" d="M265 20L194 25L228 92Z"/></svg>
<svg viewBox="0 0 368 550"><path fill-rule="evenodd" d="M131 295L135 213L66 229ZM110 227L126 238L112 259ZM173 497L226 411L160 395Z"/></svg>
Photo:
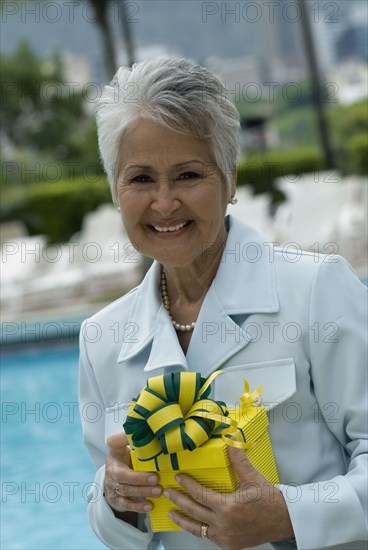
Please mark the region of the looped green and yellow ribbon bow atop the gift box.
<svg viewBox="0 0 368 550"><path fill-rule="evenodd" d="M130 403L123 425L139 460L192 451L211 437L222 437L235 447L249 447L226 404L208 399L211 383L224 372L216 371L207 379L195 372L177 372L147 380L147 386ZM253 405L262 391L257 388L249 393L247 381L244 385L240 397L243 409ZM229 439L229 434L243 441Z"/></svg>

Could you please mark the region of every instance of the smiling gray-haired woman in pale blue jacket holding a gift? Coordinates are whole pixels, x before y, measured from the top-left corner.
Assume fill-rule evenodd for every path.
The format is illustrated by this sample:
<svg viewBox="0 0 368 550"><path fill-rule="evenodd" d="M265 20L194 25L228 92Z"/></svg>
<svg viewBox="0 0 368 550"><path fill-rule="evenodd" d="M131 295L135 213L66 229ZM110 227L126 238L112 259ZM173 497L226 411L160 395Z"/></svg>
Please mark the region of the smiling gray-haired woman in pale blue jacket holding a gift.
<svg viewBox="0 0 368 550"><path fill-rule="evenodd" d="M284 254L234 216L239 117L184 59L120 68L98 115L127 234L154 259L143 282L81 330L80 407L97 468L89 517L110 548L361 548L367 538L365 287L341 257ZM157 473L134 472L122 424L150 376L223 369L212 396L264 388L281 483L240 449L235 493L188 475L165 495L182 531L152 534ZM98 413L91 413L97 410ZM354 546L354 544L356 546ZM339 546L340 547L340 546Z"/></svg>

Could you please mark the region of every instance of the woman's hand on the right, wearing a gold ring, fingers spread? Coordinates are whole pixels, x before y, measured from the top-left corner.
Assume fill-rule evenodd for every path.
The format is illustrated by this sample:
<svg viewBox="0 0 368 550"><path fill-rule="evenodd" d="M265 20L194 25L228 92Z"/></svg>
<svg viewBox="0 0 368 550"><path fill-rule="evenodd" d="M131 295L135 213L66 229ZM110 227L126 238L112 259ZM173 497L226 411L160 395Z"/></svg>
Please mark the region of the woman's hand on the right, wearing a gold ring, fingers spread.
<svg viewBox="0 0 368 550"><path fill-rule="evenodd" d="M241 449L229 447L228 452L239 477L239 489L217 493L180 474L177 480L192 498L175 489L166 489L164 494L190 518L178 511L170 512L169 517L197 537L207 525L207 537L227 550L292 539L293 528L281 491L253 468Z"/></svg>

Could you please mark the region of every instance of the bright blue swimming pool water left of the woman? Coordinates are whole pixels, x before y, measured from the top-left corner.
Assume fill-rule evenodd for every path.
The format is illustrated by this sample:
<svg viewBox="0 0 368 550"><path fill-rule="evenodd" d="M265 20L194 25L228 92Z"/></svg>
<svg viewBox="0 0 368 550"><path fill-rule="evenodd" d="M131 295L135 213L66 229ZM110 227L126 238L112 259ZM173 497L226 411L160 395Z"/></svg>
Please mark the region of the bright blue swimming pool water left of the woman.
<svg viewBox="0 0 368 550"><path fill-rule="evenodd" d="M82 443L77 377L75 346L2 355L2 550L105 548L86 514L94 467Z"/></svg>

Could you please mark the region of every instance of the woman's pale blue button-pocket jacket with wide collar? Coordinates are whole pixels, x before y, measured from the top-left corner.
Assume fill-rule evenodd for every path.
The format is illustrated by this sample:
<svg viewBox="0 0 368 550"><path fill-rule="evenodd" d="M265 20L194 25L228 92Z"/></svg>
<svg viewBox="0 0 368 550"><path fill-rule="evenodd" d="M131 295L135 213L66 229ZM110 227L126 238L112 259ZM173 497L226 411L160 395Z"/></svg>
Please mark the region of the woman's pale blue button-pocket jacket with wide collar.
<svg viewBox="0 0 368 550"><path fill-rule="evenodd" d="M264 388L294 547L362 548L353 542L367 540L367 289L339 256L274 249L237 218L227 221L226 247L186 355L161 302L157 262L141 285L82 327L81 419L98 469L92 528L113 549L216 548L186 532L152 538L149 526L116 519L102 486L106 438L122 430L148 377L177 370L206 377L221 368L232 375L216 379L212 396L229 406L244 378Z"/></svg>

